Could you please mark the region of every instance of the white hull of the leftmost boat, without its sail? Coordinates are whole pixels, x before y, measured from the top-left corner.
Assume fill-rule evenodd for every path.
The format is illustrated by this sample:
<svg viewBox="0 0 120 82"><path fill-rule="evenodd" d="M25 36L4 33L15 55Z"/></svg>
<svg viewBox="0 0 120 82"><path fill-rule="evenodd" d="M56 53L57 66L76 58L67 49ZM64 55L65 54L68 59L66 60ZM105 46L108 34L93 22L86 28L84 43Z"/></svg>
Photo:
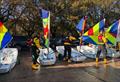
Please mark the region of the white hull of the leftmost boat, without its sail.
<svg viewBox="0 0 120 82"><path fill-rule="evenodd" d="M0 73L11 71L17 62L17 56L17 48L4 48L0 50Z"/></svg>

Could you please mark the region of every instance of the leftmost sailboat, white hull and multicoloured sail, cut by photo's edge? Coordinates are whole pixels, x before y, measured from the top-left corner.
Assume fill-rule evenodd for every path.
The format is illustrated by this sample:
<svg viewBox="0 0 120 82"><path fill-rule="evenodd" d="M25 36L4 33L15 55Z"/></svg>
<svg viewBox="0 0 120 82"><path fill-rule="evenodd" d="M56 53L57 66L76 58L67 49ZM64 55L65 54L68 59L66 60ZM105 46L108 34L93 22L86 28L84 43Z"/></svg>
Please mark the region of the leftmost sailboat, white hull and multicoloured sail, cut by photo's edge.
<svg viewBox="0 0 120 82"><path fill-rule="evenodd" d="M0 73L9 72L17 62L18 50L5 48L11 40L8 29L0 22Z"/></svg>

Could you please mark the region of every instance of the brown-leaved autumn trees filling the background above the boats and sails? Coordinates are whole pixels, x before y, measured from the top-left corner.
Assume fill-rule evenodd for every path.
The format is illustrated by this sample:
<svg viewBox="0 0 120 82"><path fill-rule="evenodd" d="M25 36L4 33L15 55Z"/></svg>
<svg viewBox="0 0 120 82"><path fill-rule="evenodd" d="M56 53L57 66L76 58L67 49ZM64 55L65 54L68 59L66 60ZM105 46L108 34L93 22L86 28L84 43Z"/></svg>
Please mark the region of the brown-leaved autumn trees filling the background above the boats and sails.
<svg viewBox="0 0 120 82"><path fill-rule="evenodd" d="M0 19L14 35L31 36L42 31L39 11L45 9L51 13L52 32L62 34L76 30L76 24L85 15L92 18L93 25L104 17L109 24L113 23L120 16L119 3L119 0L0 0Z"/></svg>

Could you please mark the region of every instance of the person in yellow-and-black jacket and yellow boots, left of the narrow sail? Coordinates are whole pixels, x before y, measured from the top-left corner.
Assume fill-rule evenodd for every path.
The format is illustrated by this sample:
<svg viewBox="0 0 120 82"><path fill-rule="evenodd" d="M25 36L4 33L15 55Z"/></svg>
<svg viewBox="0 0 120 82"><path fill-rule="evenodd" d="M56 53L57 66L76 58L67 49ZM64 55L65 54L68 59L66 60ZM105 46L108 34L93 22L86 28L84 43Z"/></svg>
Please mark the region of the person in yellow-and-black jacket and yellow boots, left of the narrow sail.
<svg viewBox="0 0 120 82"><path fill-rule="evenodd" d="M38 36L34 36L32 39L32 60L33 60L33 64L32 64L32 69L38 69L39 68L39 64L37 62L38 56L39 56L39 52L40 52L40 40Z"/></svg>

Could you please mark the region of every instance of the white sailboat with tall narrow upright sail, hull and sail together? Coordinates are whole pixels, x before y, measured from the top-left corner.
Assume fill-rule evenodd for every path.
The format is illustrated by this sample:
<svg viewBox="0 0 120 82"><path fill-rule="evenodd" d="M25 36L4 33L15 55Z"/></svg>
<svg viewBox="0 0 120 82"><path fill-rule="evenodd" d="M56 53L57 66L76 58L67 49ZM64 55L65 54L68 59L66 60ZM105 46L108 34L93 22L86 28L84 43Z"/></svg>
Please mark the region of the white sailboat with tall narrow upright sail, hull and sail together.
<svg viewBox="0 0 120 82"><path fill-rule="evenodd" d="M38 62L41 65L53 65L56 62L56 56L54 51L49 47L49 39L50 39L50 12L42 9L42 20L44 27L44 38L45 38L45 46L47 48L40 49Z"/></svg>

